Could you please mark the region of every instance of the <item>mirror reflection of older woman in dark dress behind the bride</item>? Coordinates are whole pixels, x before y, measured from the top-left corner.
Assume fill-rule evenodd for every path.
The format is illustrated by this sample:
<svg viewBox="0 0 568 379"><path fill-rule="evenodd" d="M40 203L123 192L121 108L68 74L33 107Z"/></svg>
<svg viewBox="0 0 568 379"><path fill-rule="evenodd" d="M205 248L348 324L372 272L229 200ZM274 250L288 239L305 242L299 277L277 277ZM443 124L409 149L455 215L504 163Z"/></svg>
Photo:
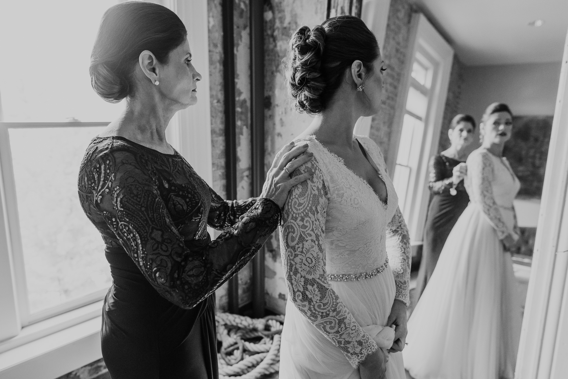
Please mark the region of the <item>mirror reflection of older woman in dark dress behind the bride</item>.
<svg viewBox="0 0 568 379"><path fill-rule="evenodd" d="M469 203L469 196L463 186L463 177L467 173L466 147L473 141L474 130L475 120L472 116L466 114L455 116L448 130L452 145L430 160L428 186L433 197L424 226L424 244L416 282L415 301L432 276L450 231Z"/></svg>

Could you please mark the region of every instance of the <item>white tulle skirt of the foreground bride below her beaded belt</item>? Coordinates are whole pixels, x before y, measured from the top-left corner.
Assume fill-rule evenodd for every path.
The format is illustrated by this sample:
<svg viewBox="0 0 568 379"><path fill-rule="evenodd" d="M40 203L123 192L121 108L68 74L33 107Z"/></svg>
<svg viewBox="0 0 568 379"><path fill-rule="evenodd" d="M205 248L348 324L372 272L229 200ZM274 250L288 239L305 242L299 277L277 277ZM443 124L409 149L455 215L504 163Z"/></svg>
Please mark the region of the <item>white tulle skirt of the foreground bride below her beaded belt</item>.
<svg viewBox="0 0 568 379"><path fill-rule="evenodd" d="M341 301L362 326L385 326L395 295L390 266L361 281L330 281ZM387 379L405 379L402 353L390 353ZM280 379L359 379L343 352L304 317L293 302L286 304L280 347Z"/></svg>

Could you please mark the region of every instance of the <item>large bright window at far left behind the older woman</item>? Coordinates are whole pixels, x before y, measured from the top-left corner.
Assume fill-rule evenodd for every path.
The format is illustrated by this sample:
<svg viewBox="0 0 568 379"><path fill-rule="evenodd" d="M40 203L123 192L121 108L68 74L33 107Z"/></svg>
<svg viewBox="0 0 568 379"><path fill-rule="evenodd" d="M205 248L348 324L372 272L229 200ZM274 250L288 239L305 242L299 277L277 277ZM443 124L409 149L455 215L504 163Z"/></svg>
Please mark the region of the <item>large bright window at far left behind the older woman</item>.
<svg viewBox="0 0 568 379"><path fill-rule="evenodd" d="M10 73L0 76L0 211L7 221L0 265L11 267L0 299L13 315L6 322L3 311L0 342L99 301L110 285L101 236L78 202L77 174L89 141L124 109L99 98L89 77L98 25L117 2L0 5L0 69Z"/></svg>

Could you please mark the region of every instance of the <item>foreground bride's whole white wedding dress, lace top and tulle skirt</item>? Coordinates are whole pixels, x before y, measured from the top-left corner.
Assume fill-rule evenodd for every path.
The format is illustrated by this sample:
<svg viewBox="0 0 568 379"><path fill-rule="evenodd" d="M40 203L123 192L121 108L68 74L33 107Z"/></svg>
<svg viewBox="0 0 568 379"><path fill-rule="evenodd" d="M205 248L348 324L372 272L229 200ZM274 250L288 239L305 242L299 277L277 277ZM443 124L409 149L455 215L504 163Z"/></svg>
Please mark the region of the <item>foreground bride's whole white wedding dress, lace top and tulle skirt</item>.
<svg viewBox="0 0 568 379"><path fill-rule="evenodd" d="M383 203L369 184L313 136L314 171L295 186L283 211L282 263L289 291L280 379L356 379L358 365L390 348L392 302L408 305L410 238L385 161L373 140L354 136L387 188ZM404 379L402 353L391 353L387 379Z"/></svg>

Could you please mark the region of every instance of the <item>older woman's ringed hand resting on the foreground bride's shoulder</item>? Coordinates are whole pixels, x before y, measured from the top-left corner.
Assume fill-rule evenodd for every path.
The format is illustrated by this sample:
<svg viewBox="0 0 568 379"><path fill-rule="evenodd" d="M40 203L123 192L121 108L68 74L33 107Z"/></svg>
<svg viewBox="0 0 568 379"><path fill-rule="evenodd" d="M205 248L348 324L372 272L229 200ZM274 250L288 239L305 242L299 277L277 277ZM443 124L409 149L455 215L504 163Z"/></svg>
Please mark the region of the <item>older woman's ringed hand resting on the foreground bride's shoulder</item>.
<svg viewBox="0 0 568 379"><path fill-rule="evenodd" d="M274 157L272 166L266 174L266 181L262 186L261 198L267 198L278 204L280 208L286 203L290 189L296 184L314 176L314 172L306 172L290 178L296 168L309 162L313 153L302 155L308 149L308 144L296 146L294 141L285 145ZM302 155L302 156L300 156Z"/></svg>

